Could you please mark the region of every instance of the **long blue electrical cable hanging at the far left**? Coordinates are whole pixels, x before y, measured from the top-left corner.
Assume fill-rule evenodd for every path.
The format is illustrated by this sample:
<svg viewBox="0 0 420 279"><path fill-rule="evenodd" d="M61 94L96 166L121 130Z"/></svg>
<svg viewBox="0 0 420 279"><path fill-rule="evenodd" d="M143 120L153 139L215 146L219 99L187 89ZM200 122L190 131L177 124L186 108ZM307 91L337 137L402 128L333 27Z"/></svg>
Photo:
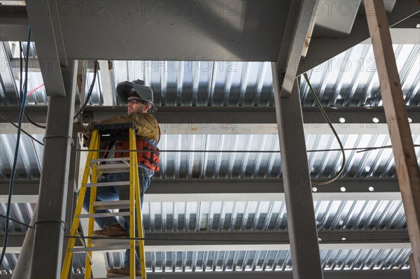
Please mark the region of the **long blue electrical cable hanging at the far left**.
<svg viewBox="0 0 420 279"><path fill-rule="evenodd" d="M20 143L20 129L22 127L22 119L23 113L25 112L25 104L26 104L26 97L27 97L27 88L28 88L28 60L29 60L29 47L31 45L31 24L29 23L29 30L28 30L28 43L27 43L27 55L25 57L25 83L23 89L23 96L22 96L22 103L20 104L20 113L19 113L19 122L18 122L18 136L16 138L16 147L15 147L15 156L13 157L13 166L12 166L12 174L10 176L10 185L9 185L9 193L7 199L7 210L6 210L6 217L10 217L10 204L12 201L12 194L13 194L13 183L15 180L15 171L16 171L16 163L18 161L18 153L19 153L19 143ZM20 80L22 83L22 79ZM22 85L21 85L22 87ZM3 264L4 255L6 255L6 247L8 241L8 226L10 220L6 220L6 231L4 233L4 241L3 241L3 250L1 250L1 257L0 257L0 266Z"/></svg>

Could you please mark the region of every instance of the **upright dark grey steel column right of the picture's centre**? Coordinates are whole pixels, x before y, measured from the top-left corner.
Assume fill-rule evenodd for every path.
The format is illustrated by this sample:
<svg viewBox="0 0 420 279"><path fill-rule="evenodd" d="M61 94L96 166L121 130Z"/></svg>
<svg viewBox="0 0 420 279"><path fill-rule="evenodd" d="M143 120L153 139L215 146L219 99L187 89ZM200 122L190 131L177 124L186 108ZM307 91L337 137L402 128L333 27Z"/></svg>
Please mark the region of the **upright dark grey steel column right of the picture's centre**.
<svg viewBox="0 0 420 279"><path fill-rule="evenodd" d="M316 233L309 237L300 235L300 231L305 229L316 231L316 224L297 82L292 94L281 98L280 90L282 89L279 87L279 73L275 63L272 63L272 75L288 213L287 222L292 228L289 233L293 278L323 278ZM288 115L297 115L297 118L301 120L290 122Z"/></svg>

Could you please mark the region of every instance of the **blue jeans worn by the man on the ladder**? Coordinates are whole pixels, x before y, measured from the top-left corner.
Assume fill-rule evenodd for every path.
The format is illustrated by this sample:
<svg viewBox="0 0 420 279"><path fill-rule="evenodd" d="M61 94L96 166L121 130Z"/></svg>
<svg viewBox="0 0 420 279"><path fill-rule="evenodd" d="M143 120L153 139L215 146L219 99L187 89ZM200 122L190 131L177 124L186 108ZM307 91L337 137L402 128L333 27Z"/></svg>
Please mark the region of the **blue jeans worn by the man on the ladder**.
<svg viewBox="0 0 420 279"><path fill-rule="evenodd" d="M144 166L139 166L139 181L143 185L143 189L140 188L140 200L141 208L143 208L143 199L144 192L151 184L151 178L153 176L153 171L145 168ZM106 173L98 179L98 183L104 182L118 182L118 181L129 181L130 173ZM140 187L140 185L139 185ZM107 186L107 187L97 187L97 201L117 201L117 200L127 200L130 199L130 188L128 186ZM86 189L85 199L83 201L83 208L89 212L89 203L90 203L90 187ZM122 211L122 210L120 210ZM95 213L109 213L107 209L96 210ZM112 226L114 224L120 224L116 217L100 217L94 219L101 229ZM127 236L130 236L130 216L124 216L124 227ZM143 226L142 226L143 227ZM137 231L136 231L137 236ZM125 250L125 266L130 265L130 249ZM136 267L139 269L140 264L137 261Z"/></svg>

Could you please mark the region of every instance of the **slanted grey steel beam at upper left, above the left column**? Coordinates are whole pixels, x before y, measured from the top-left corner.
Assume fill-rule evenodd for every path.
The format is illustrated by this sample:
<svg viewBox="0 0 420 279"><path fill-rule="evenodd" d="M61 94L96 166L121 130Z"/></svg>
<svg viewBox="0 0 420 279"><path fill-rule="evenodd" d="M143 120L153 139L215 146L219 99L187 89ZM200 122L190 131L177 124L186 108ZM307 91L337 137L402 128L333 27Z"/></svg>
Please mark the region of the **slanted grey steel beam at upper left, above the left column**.
<svg viewBox="0 0 420 279"><path fill-rule="evenodd" d="M47 96L66 96L62 68L68 65L57 1L28 0L26 3L45 92Z"/></svg>

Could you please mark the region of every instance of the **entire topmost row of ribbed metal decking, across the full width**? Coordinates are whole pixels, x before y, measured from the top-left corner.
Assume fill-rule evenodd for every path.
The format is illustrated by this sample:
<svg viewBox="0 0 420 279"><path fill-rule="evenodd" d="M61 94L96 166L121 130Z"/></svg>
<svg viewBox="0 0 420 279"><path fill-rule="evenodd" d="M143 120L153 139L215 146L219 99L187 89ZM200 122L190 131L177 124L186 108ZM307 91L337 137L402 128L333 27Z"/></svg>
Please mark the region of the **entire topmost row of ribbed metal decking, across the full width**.
<svg viewBox="0 0 420 279"><path fill-rule="evenodd" d="M420 106L420 45L393 45L407 106ZM269 62L236 61L113 61L116 86L125 80L145 80L158 106L273 106ZM325 106L381 106L381 91L372 45L356 45L308 72L311 85ZM85 92L92 82L87 75ZM17 87L18 80L17 80ZM28 92L43 85L41 73L29 74ZM303 106L314 106L305 81L300 83ZM102 105L100 78L90 105ZM118 99L117 99L118 100ZM28 103L45 104L43 87ZM117 102L118 104L119 102Z"/></svg>

